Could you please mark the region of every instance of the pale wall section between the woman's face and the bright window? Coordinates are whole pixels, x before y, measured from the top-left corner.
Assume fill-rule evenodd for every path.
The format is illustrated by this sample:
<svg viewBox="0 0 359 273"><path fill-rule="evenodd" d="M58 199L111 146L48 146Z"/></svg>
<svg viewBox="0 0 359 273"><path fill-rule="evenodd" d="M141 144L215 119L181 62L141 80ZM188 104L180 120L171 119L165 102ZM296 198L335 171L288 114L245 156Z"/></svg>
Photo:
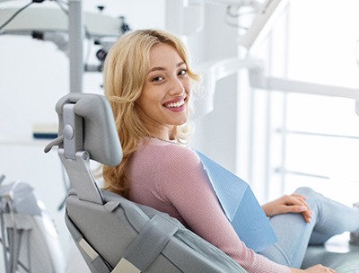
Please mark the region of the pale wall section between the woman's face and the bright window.
<svg viewBox="0 0 359 273"><path fill-rule="evenodd" d="M223 21L224 5L207 5L205 28L188 37L195 65L209 60L237 57L237 29ZM237 78L231 75L218 81L214 110L195 119L191 145L232 172L236 171ZM195 105L196 108L196 105Z"/></svg>

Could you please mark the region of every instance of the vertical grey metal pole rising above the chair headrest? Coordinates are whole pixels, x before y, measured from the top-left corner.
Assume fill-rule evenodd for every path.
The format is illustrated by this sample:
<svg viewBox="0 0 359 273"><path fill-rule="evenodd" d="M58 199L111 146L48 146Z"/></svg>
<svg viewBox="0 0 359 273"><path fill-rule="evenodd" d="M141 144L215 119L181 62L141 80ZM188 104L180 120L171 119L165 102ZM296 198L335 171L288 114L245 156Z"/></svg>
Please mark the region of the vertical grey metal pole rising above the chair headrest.
<svg viewBox="0 0 359 273"><path fill-rule="evenodd" d="M83 10L81 0L69 1L70 92L83 92Z"/></svg>

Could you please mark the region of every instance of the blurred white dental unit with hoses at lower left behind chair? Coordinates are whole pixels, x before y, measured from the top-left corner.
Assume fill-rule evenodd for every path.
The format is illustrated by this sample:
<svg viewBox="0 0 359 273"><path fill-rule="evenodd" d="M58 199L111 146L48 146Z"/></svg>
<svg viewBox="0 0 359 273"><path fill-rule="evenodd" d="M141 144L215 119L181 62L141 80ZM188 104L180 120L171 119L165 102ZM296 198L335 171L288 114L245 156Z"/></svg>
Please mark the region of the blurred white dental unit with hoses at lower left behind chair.
<svg viewBox="0 0 359 273"><path fill-rule="evenodd" d="M1 184L0 226L5 273L65 272L56 227L29 184Z"/></svg>

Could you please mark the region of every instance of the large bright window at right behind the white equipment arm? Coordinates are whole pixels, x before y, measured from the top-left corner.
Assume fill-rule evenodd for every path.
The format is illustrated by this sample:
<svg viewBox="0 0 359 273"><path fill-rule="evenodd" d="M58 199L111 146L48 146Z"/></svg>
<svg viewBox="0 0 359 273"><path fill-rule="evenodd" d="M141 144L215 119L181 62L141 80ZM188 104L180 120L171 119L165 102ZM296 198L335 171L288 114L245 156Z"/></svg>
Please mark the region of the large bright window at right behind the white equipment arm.
<svg viewBox="0 0 359 273"><path fill-rule="evenodd" d="M292 0L270 39L252 54L265 60L270 76L359 92L358 10L355 0ZM238 170L259 199L310 186L347 205L359 201L354 100L258 89L247 95L250 110L239 115L250 121L246 128L240 124L239 135L242 128L250 137L239 147Z"/></svg>

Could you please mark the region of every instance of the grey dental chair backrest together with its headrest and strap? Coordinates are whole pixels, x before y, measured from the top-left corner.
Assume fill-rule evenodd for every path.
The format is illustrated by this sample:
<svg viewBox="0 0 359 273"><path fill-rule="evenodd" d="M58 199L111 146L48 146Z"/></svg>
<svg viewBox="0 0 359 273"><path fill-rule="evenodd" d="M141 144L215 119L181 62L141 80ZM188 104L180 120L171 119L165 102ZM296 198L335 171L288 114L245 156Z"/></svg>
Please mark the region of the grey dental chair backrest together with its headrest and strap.
<svg viewBox="0 0 359 273"><path fill-rule="evenodd" d="M70 93L56 109L58 137L46 150L59 145L74 188L66 198L66 225L93 273L245 272L171 216L98 189L90 159L117 165L122 156L103 96Z"/></svg>

